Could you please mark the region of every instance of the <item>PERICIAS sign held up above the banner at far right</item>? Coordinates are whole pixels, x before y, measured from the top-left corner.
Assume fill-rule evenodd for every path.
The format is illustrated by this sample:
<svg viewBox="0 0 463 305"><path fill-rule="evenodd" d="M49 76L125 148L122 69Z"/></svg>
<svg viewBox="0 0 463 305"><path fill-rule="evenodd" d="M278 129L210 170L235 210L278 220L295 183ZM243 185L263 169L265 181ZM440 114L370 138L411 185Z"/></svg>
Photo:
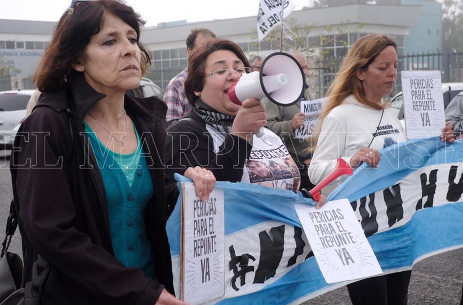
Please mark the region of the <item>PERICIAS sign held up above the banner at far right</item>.
<svg viewBox="0 0 463 305"><path fill-rule="evenodd" d="M436 137L445 126L440 71L402 71L407 139Z"/></svg>

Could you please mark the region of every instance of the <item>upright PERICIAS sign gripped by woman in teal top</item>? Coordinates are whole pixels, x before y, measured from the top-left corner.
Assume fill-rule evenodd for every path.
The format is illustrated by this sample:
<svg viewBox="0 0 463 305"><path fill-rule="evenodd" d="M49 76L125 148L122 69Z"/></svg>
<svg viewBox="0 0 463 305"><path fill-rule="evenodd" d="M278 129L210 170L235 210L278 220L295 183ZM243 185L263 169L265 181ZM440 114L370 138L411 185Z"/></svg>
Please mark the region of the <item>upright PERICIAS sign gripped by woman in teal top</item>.
<svg viewBox="0 0 463 305"><path fill-rule="evenodd" d="M181 299L201 304L225 293L224 191L201 201L182 183Z"/></svg>

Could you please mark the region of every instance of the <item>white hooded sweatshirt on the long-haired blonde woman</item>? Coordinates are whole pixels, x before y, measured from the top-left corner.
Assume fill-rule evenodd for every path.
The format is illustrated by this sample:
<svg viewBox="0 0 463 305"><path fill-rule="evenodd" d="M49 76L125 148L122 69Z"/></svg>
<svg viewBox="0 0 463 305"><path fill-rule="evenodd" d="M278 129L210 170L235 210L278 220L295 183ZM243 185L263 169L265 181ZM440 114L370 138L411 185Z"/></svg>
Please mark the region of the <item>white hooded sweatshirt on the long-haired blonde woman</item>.
<svg viewBox="0 0 463 305"><path fill-rule="evenodd" d="M362 147L379 150L405 141L397 114L391 108L376 110L349 95L323 120L322 129L308 168L310 181L322 181L334 168L338 158L350 163L350 158ZM340 185L348 176L333 181L328 191ZM327 191L323 192L328 193Z"/></svg>

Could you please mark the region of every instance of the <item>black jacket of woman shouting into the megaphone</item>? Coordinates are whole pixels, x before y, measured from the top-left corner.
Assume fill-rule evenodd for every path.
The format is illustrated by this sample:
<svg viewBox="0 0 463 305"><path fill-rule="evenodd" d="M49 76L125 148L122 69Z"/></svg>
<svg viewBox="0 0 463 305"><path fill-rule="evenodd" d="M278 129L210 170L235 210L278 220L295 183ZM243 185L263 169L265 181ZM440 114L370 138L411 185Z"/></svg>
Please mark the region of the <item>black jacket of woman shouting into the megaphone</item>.
<svg viewBox="0 0 463 305"><path fill-rule="evenodd" d="M249 142L227 134L216 155L213 137L206 129L206 123L190 110L167 130L166 174L169 182L173 182L175 173L183 174L190 166L200 166L212 171L217 181L239 182L251 150Z"/></svg>

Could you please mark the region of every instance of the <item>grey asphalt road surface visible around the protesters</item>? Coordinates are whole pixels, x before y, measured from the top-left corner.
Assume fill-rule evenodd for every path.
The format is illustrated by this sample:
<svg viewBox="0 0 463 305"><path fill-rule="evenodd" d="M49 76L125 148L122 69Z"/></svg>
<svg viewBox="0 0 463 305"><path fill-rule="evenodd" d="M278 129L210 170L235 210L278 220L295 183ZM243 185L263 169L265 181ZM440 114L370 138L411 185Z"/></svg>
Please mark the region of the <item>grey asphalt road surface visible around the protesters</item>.
<svg viewBox="0 0 463 305"><path fill-rule="evenodd" d="M4 238L5 222L13 198L11 188L10 152L0 151L0 233ZM463 221L463 220L462 220ZM19 230L13 237L10 251L21 254ZM463 249L445 252L419 261L413 267L408 289L409 305L458 305L463 283ZM303 305L350 305L345 287L308 300Z"/></svg>

